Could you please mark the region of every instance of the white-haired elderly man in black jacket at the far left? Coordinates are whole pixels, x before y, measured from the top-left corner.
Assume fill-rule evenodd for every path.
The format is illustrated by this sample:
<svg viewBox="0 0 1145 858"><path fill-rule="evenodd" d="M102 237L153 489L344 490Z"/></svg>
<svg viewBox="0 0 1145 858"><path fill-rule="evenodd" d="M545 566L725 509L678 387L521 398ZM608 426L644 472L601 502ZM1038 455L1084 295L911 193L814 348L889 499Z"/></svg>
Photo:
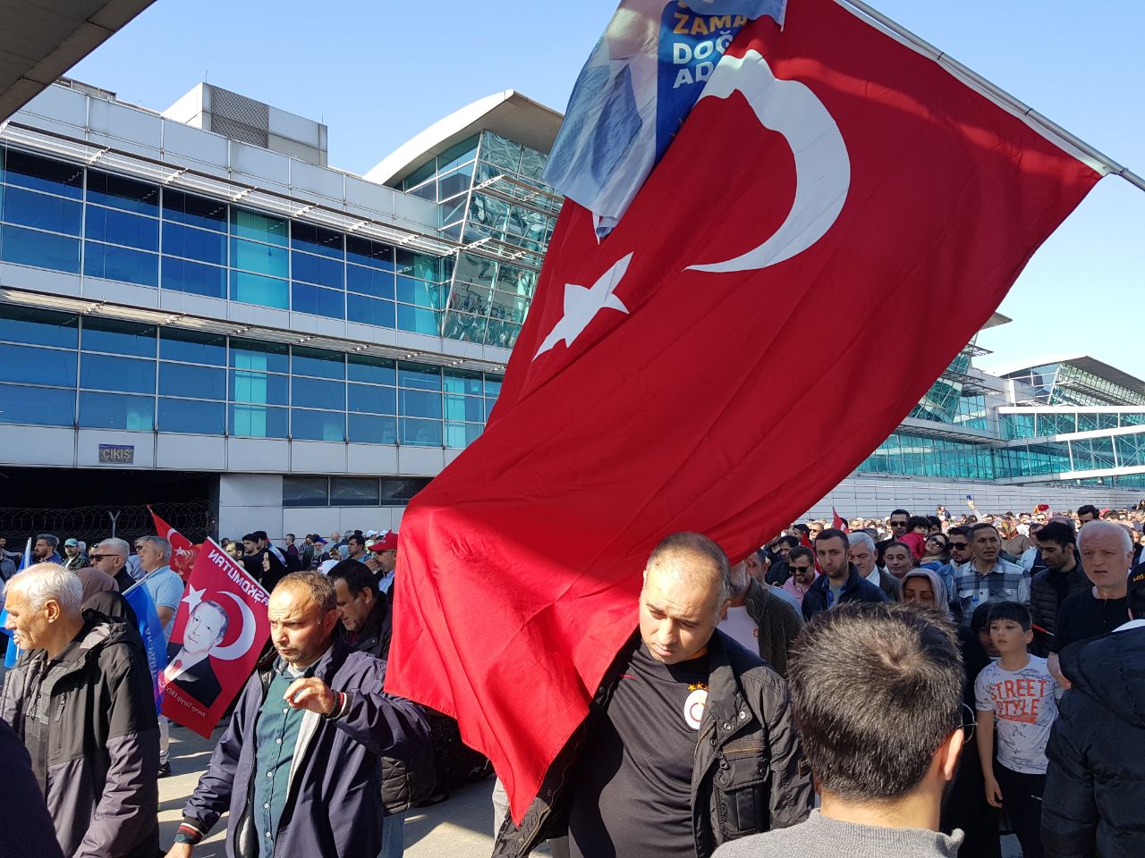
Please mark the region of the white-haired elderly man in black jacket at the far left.
<svg viewBox="0 0 1145 858"><path fill-rule="evenodd" d="M54 563L15 575L6 596L6 627L25 652L0 717L27 749L63 853L153 858L159 737L139 635L82 611L79 578Z"/></svg>

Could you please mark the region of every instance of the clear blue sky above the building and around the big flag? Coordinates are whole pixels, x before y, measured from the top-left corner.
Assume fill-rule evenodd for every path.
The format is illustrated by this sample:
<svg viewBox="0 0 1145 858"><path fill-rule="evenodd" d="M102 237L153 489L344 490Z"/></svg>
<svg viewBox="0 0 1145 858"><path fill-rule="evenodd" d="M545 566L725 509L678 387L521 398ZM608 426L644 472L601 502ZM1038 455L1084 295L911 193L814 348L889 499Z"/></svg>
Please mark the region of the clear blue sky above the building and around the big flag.
<svg viewBox="0 0 1145 858"><path fill-rule="evenodd" d="M799 0L789 0L798 3ZM953 57L1145 175L1145 2L875 0ZM71 74L161 110L195 84L330 127L363 173L502 89L563 110L615 0L157 0ZM956 300L957 296L949 296ZM1145 192L1105 178L1034 256L986 332L985 368L1089 353L1145 378ZM942 324L942 304L931 324ZM886 367L893 380L893 367Z"/></svg>

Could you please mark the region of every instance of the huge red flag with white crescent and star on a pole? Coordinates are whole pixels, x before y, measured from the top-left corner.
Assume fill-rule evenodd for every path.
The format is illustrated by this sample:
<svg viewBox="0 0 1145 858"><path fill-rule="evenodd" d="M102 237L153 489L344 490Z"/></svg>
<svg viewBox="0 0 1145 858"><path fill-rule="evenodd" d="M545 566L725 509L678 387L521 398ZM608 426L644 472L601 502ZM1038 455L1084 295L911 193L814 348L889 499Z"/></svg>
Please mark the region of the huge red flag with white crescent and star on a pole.
<svg viewBox="0 0 1145 858"><path fill-rule="evenodd" d="M566 202L487 431L403 517L387 690L520 819L653 547L737 559L811 508L1099 177L831 0L745 26L607 238Z"/></svg>

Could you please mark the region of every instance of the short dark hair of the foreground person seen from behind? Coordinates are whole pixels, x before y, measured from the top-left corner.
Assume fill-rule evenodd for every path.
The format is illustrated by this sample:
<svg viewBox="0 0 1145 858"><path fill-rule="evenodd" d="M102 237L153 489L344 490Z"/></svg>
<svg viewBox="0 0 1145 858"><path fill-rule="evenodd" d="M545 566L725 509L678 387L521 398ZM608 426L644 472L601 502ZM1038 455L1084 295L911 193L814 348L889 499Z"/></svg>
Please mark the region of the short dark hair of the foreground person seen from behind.
<svg viewBox="0 0 1145 858"><path fill-rule="evenodd" d="M858 801L914 789L962 723L964 680L957 635L937 613L850 602L816 614L792 648L788 682L818 784Z"/></svg>

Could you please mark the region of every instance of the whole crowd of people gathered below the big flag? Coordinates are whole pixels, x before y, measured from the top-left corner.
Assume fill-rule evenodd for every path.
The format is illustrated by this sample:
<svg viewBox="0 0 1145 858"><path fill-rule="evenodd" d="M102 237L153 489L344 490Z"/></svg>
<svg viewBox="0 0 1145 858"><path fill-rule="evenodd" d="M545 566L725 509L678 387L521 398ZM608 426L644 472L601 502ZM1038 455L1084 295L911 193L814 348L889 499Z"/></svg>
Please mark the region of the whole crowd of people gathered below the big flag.
<svg viewBox="0 0 1145 858"><path fill-rule="evenodd" d="M448 718L382 693L397 534L220 542L270 594L270 645L167 855L227 812L230 856L401 855L405 813L443 797ZM972 501L798 522L734 564L671 534L520 824L495 785L493 855L989 858L1006 832L1027 858L1145 855L1143 545L1142 510ZM141 582L169 638L171 545L40 534L23 561L0 538L22 650L0 855L153 858L171 725L121 594Z"/></svg>

